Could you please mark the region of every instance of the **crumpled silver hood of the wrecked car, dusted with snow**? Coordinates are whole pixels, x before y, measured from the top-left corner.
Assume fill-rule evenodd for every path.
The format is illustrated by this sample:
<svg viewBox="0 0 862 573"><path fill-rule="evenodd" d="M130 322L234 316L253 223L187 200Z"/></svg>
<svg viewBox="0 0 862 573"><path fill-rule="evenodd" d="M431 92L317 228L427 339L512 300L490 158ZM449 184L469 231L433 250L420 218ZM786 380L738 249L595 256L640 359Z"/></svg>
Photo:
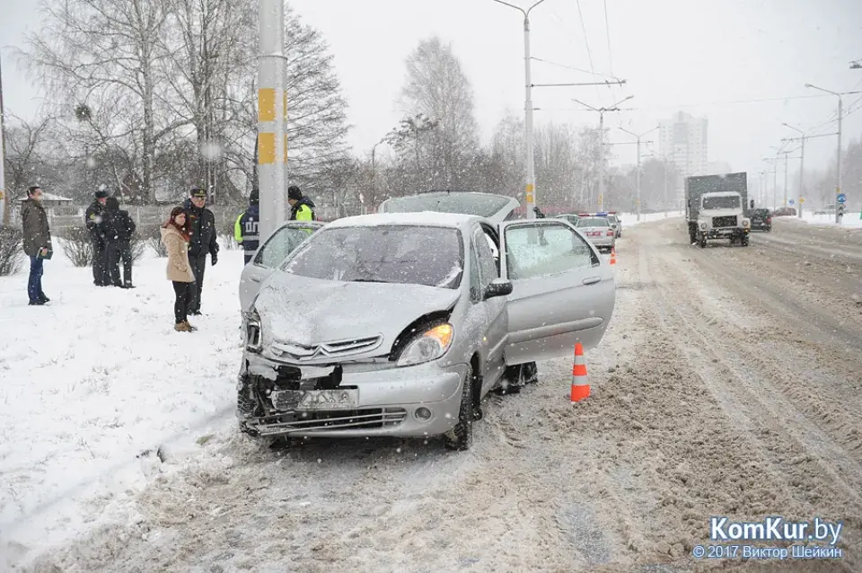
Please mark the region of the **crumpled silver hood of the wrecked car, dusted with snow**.
<svg viewBox="0 0 862 573"><path fill-rule="evenodd" d="M388 354L410 322L458 301L452 288L354 283L304 278L275 272L264 281L254 308L260 316L263 345L273 342L314 346L378 335L374 355Z"/></svg>

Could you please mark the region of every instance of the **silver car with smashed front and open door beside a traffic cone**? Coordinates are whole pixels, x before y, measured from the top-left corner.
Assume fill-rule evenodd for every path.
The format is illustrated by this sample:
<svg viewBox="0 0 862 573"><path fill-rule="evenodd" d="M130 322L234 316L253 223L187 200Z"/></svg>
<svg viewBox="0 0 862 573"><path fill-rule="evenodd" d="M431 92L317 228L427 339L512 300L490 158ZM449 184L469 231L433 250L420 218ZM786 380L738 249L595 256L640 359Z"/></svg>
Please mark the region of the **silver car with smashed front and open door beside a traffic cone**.
<svg viewBox="0 0 862 573"><path fill-rule="evenodd" d="M496 215L355 216L312 234L244 313L241 429L463 450L506 366L597 345L611 267L563 221Z"/></svg>

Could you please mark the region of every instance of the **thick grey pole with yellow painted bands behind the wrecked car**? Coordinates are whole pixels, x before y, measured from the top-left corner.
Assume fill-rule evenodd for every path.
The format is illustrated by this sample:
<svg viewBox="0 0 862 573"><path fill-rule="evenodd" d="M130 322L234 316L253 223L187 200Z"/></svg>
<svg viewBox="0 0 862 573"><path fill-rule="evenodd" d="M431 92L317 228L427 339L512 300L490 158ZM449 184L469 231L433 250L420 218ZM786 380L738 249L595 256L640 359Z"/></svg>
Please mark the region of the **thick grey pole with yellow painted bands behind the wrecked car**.
<svg viewBox="0 0 862 573"><path fill-rule="evenodd" d="M258 181L261 241L286 219L285 4L259 0Z"/></svg>

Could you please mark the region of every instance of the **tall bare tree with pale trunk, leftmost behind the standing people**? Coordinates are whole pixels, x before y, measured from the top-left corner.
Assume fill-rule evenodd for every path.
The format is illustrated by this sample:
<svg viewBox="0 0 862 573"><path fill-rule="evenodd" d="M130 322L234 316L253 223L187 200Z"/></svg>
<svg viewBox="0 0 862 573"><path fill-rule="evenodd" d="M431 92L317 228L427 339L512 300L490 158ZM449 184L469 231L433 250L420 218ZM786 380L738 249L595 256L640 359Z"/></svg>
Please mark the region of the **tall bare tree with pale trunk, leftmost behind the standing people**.
<svg viewBox="0 0 862 573"><path fill-rule="evenodd" d="M164 78L163 35L168 0L60 0L43 4L45 27L29 39L26 57L55 101L92 97L122 102L139 118L131 134L146 198L155 199L153 164L163 137L188 123L159 114ZM66 110L68 114L69 110ZM110 134L112 137L116 134Z"/></svg>

